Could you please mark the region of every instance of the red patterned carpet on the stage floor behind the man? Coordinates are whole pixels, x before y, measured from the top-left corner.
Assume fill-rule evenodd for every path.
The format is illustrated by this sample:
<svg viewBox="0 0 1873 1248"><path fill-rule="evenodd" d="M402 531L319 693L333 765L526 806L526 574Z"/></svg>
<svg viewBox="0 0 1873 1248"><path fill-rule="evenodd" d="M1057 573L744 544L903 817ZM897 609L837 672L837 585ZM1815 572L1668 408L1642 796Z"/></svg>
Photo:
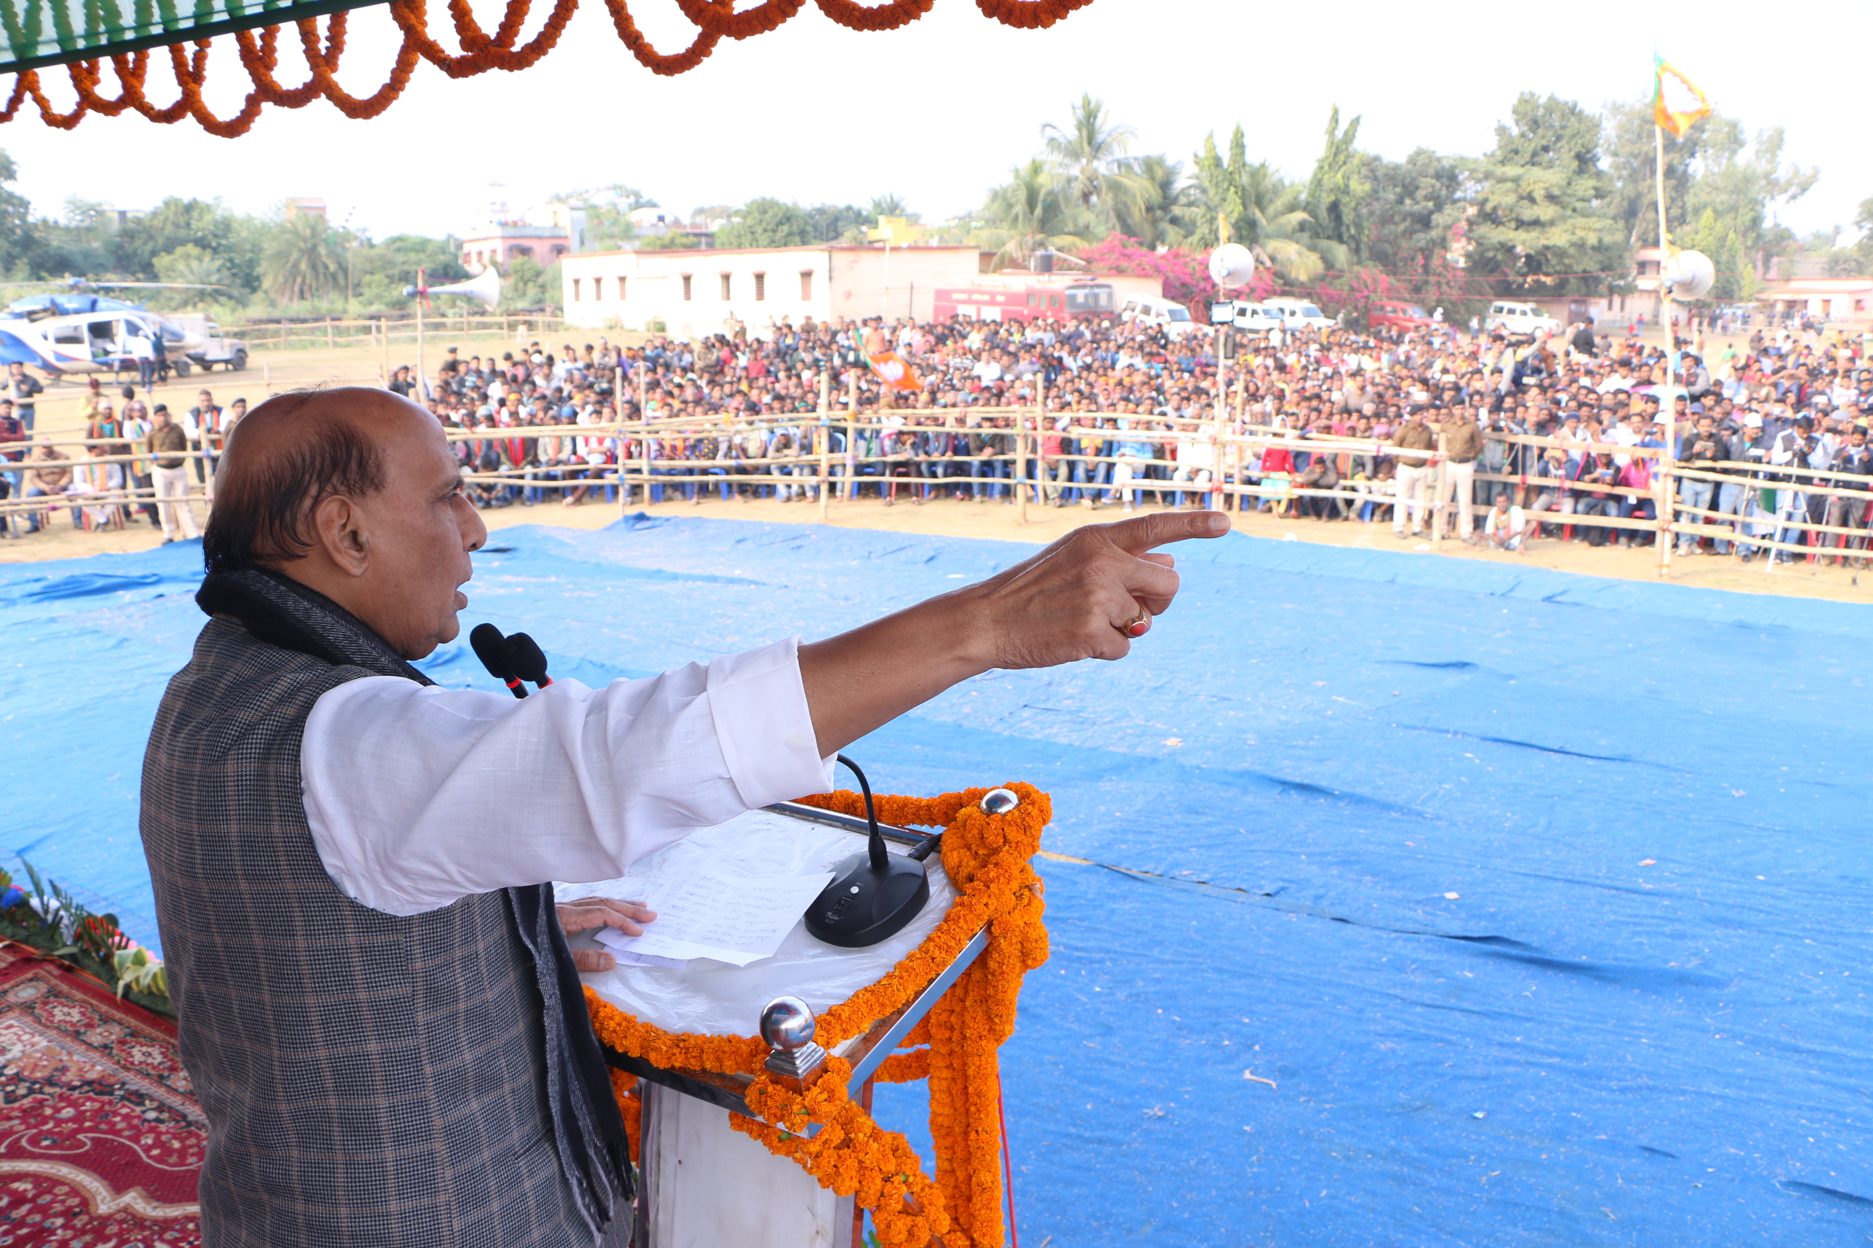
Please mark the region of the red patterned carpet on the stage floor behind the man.
<svg viewBox="0 0 1873 1248"><path fill-rule="evenodd" d="M202 1147L176 1029L0 943L0 1246L200 1244Z"/></svg>

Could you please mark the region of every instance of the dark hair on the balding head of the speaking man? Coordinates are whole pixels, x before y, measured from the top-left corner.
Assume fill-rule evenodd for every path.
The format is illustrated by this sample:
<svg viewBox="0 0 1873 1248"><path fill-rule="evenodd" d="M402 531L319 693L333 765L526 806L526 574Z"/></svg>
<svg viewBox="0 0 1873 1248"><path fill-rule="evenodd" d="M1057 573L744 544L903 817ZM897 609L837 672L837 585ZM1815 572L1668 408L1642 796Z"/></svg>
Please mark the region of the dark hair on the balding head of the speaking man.
<svg viewBox="0 0 1873 1248"><path fill-rule="evenodd" d="M300 417L317 393L279 395L260 404L290 404ZM255 408L245 419L255 419ZM247 464L240 430L229 440L215 483L215 507L202 528L202 563L210 573L238 573L303 559L313 548L313 509L333 494L363 498L384 488L384 453L352 421L307 414L288 445Z"/></svg>

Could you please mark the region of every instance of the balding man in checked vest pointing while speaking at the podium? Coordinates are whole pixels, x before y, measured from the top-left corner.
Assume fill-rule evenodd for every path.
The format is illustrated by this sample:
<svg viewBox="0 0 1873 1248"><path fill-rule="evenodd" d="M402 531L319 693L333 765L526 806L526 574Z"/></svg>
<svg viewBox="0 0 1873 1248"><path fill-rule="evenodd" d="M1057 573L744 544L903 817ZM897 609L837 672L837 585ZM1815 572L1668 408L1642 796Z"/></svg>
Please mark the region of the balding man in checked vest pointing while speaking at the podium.
<svg viewBox="0 0 1873 1248"><path fill-rule="evenodd" d="M459 632L487 541L435 417L378 389L255 408L142 778L204 1244L627 1242L566 928L650 915L551 881L824 791L841 747L980 672L1122 657L1176 595L1150 548L1227 528L1088 526L824 642L515 702L410 666Z"/></svg>

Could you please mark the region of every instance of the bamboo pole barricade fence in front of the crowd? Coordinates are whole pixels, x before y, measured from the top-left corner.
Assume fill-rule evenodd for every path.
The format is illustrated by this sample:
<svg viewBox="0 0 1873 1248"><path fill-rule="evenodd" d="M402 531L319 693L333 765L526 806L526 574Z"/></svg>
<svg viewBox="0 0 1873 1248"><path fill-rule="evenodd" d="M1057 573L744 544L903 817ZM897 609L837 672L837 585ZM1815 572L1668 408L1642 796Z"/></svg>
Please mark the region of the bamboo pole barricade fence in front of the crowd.
<svg viewBox="0 0 1873 1248"><path fill-rule="evenodd" d="M946 466L965 464L965 462L987 462L995 464L991 472L1000 473L1006 466L1008 475L923 475L920 464L923 462L914 455L893 455L880 457L869 451L862 453L860 434L882 434L886 430L897 432L918 432L923 428L933 428L929 425L910 425L910 419L927 419L931 415L944 417L944 430L948 432L966 432L963 427L950 423L951 417L981 417L983 421L1008 419L1010 427L991 427L983 425L981 432L991 432L1008 438L1010 449L998 455L987 457L968 457L968 455L946 455L936 457ZM1217 505L1225 509L1242 511L1246 505L1266 505L1266 503L1287 503L1292 500L1330 500L1347 505L1356 515L1367 503L1379 507L1401 507L1405 501L1395 492L1395 483L1386 481L1350 481L1341 479L1334 488L1311 488L1296 485L1298 473L1281 475L1272 473L1261 479L1249 481L1246 464L1259 451L1268 451L1272 447L1285 447L1290 453L1307 455L1350 455L1350 457L1392 457L1401 455L1401 449L1390 442L1362 440L1362 438L1313 438L1302 436L1298 430L1268 428L1268 427L1244 427L1240 430L1225 432L1221 443L1214 442L1214 432L1208 430L1118 430L1103 428L1098 425L1077 423L1081 417L1092 414L1062 414L1075 423L1071 423L1062 434L1075 442L1094 440L1099 443L1133 440L1148 442L1154 445L1163 443L1193 443L1216 447L1210 464L1210 481L1202 483L1197 473L1191 473L1189 481L1172 481L1169 470L1176 466L1174 460L1150 460L1152 466L1167 470L1165 477L1146 477L1135 475L1131 485L1116 486L1113 485L1111 468L1120 462L1118 455L1060 455L1060 457L1040 457L1040 438L1043 430L1040 428L1043 410L1036 406L1023 408L968 408L968 410L938 410L931 408L905 408L892 412L890 419L880 419L882 414L867 412L869 419L860 419L856 387L848 387L843 428L845 428L845 455L843 464L833 460L832 438L833 428L832 406L828 384L820 387L820 404L817 412L802 412L792 415L770 415L760 421L742 421L727 417L695 417L695 415L671 415L671 417L646 417L637 423L607 423L607 425L524 425L524 427L504 427L496 430L485 428L450 428L444 430L450 442L534 442L538 449L538 440L551 438L584 438L599 440L609 445L609 462L590 464L579 458L560 458L553 464L521 464L506 466L494 472L481 472L478 468L465 468L463 481L476 485L500 485L515 486L521 490L539 490L545 494L558 494L569 498L573 492L590 494L607 488L618 490L618 503L622 507L635 505L652 507L659 505L656 494L671 492L687 500L691 494L706 496L710 488L721 490L723 486L738 490L738 486L798 486L802 490L811 488L819 501L820 516L828 515L828 507L837 490L841 498L856 498L860 488L865 485L878 486L884 494L892 485L903 485L912 498L920 498L925 490L942 492L946 488L966 488L970 492L987 490L989 494L1002 490L1011 492L1013 501L1017 501L1017 522L1025 520L1025 511L1028 501L1043 503L1049 492L1066 494L1069 490L1092 492L1113 498L1120 488L1137 494L1187 494L1195 500L1204 496L1217 500ZM903 419L905 423L895 423ZM1109 419L1109 417L1096 417ZM652 455L652 443L663 438L719 438L723 442L730 438L742 438L751 428L770 430L775 427L794 428L800 434L796 443L796 455L787 457L747 457L747 455L717 455L708 460L693 458L656 458ZM1543 438L1538 434L1487 434L1487 440L1498 440L1512 445L1526 445L1536 451L1562 449L1568 453L1603 453L1603 455L1626 455L1648 460L1661 460L1663 447L1639 447L1622 445L1615 442L1570 442L1562 438ZM807 442L811 440L811 442ZM67 460L58 460L52 468L71 468L81 470L97 464L139 464L148 466L154 462L150 451L133 451L129 455L101 455L92 457L88 449L94 445L124 445L125 438L51 438L51 445L58 449L79 449L86 453L77 453ZM635 445L633 445L635 443ZM11 449L19 445L26 449L26 443L7 443ZM135 442L131 442L135 445ZM635 455L629 455L635 451ZM206 455L219 457L219 451L208 451ZM189 449L167 453L165 458L180 457L187 460L199 460L204 451ZM620 462L622 460L622 462ZM1047 466L1054 462L1069 462L1079 466L1079 472L1069 472L1066 481L1054 481L1047 473ZM1433 460L1435 464L1435 460ZM0 460L0 473L22 479L24 473L36 472L45 464L34 464L30 460ZM1710 468L1719 468L1727 472L1712 472ZM899 475L899 470L905 470ZM1873 503L1873 477L1862 473L1843 473L1834 470L1819 468L1796 468L1792 464L1761 464L1761 462L1701 462L1697 468L1671 462L1665 472L1656 473L1658 483L1652 488L1635 488L1620 485L1600 485L1600 483L1579 483L1562 481L1556 477L1536 477L1525 473L1485 473L1476 472L1474 481L1502 485L1510 488L1525 488L1530 496L1534 494L1556 494L1560 498L1581 498L1588 494L1605 494L1611 500L1641 500L1652 503L1661 515L1659 518L1644 516L1618 516L1618 515L1586 515L1575 511L1534 511L1525 505L1525 513L1530 522L1541 526L1598 526L1603 530L1616 531L1639 531L1639 533L1659 533L1667 535L1697 535L1697 537L1716 537L1729 541L1734 546L1748 546L1751 550L1774 550L1787 552L1794 556L1830 556L1843 554L1856 558L1852 552L1856 548L1845 548L1847 541L1867 541L1873 537L1867 528L1856 526L1830 526L1824 522L1807 520L1806 513L1802 516L1781 516L1766 511L1757 511L1755 515L1746 515L1746 511L1718 511L1712 507L1693 507L1686 500L1676 498L1674 483L1678 479L1708 481L1714 486L1736 485L1742 486L1738 507L1748 509L1761 498L1762 490L1792 490L1804 496L1822 496L1822 498L1841 498L1849 501ZM1802 483L1791 481L1791 477L1800 477ZM1852 488L1845 483L1866 483L1869 488ZM1839 483L1839 485L1837 485ZM1440 486L1438 473L1433 472L1433 479L1425 488L1423 513L1431 516L1431 537L1433 548L1438 539L1448 531L1448 515L1459 505L1457 500L1444 503L1438 498ZM657 486L663 486L661 490ZM131 509L139 509L146 501L155 501L154 488L135 488L125 486L122 490L94 490L82 494L49 494L32 500L21 498L15 488L13 498L0 503L0 515L22 515L22 513L43 513L58 511L62 507L97 507L125 503ZM180 500L176 500L180 501ZM202 483L189 481L189 503L208 503L208 488ZM1461 505L1470 509L1472 516L1480 516L1489 511L1485 503L1476 503L1474 500L1465 500ZM1680 522L1678 513L1689 513L1697 520ZM1864 511L1864 520L1873 516L1873 505ZM1731 524L1742 524L1749 530L1759 530L1753 533L1740 533L1731 528ZM1802 546L1798 543L1777 541L1789 530L1791 535L1811 533L1821 537L1836 537L1837 544L1832 546ZM1534 537L1534 535L1532 535Z"/></svg>

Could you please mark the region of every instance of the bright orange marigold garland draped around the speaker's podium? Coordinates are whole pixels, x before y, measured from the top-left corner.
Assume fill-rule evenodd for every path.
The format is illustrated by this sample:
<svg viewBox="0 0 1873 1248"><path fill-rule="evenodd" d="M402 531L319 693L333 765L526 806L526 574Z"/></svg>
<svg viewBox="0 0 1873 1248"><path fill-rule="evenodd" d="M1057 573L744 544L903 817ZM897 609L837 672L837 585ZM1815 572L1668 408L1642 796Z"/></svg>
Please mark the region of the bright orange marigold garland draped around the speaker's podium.
<svg viewBox="0 0 1873 1248"><path fill-rule="evenodd" d="M1041 881L1030 859L1053 818L1047 793L1010 784L1021 805L985 814L989 790L942 797L878 797L886 823L940 827L944 874L957 898L950 913L884 979L819 1016L815 1038L828 1050L908 1005L963 952L983 926L989 945L963 971L922 1023L905 1037L875 1076L882 1083L929 1080L931 1139L936 1177L923 1173L910 1143L884 1130L850 1095L850 1063L828 1057L826 1076L805 1093L774 1081L757 1037L672 1035L644 1023L586 988L586 1007L599 1040L614 1050L678 1070L753 1074L744 1093L759 1119L732 1113L736 1130L768 1151L792 1158L820 1186L852 1196L871 1211L882 1248L923 1248L940 1237L946 1248L1002 1246L1002 1169L996 1104L1002 1076L996 1050L1015 1029L1021 979L1047 962ZM863 814L858 793L804 797L805 805ZM641 1096L635 1080L612 1076L633 1156L639 1147ZM807 1138L809 1123L819 1132Z"/></svg>

